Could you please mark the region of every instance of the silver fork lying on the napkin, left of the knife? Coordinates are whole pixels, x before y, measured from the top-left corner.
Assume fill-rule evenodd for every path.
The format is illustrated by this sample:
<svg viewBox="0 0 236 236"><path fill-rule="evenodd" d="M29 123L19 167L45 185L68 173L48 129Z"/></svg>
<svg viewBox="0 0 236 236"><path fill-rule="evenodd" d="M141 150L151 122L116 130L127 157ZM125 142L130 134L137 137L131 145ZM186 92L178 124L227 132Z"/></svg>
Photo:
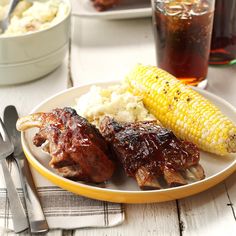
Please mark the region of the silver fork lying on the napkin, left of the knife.
<svg viewBox="0 0 236 236"><path fill-rule="evenodd" d="M12 213L14 231L15 233L19 233L26 230L29 227L29 225L24 208L20 201L20 197L13 183L11 173L7 167L6 158L10 156L13 153L13 151L14 151L14 146L10 141L5 126L2 122L2 119L0 118L0 162L2 164L2 170L6 182L7 195Z"/></svg>

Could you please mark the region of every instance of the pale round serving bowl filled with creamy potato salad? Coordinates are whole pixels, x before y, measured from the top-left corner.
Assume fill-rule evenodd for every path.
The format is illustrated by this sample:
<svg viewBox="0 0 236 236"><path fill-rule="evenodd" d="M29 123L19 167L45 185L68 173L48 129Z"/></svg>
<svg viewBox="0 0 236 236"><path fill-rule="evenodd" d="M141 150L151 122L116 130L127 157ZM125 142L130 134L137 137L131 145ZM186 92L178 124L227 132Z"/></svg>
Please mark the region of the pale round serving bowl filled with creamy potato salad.
<svg viewBox="0 0 236 236"><path fill-rule="evenodd" d="M9 0L0 0L0 20ZM24 83L55 70L68 50L70 0L20 0L0 29L0 85Z"/></svg>

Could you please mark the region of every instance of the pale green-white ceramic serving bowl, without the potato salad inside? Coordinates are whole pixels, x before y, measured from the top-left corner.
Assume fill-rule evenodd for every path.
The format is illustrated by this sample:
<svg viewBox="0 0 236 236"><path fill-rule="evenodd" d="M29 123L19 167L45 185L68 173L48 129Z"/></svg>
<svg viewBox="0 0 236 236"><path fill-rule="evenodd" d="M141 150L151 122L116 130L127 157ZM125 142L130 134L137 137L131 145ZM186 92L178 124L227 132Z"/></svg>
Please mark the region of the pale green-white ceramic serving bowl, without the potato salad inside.
<svg viewBox="0 0 236 236"><path fill-rule="evenodd" d="M0 85L38 79L63 61L70 37L70 0L68 13L50 28L16 36L0 37Z"/></svg>

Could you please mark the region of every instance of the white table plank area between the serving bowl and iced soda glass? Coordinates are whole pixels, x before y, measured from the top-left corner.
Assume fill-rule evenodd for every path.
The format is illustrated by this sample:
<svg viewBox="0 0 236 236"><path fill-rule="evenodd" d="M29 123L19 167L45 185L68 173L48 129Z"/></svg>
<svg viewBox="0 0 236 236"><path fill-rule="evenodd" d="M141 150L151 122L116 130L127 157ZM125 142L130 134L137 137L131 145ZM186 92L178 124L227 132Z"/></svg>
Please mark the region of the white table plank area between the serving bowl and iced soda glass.
<svg viewBox="0 0 236 236"><path fill-rule="evenodd" d="M74 85L122 80L137 63L155 63L151 20L74 18L71 71Z"/></svg>

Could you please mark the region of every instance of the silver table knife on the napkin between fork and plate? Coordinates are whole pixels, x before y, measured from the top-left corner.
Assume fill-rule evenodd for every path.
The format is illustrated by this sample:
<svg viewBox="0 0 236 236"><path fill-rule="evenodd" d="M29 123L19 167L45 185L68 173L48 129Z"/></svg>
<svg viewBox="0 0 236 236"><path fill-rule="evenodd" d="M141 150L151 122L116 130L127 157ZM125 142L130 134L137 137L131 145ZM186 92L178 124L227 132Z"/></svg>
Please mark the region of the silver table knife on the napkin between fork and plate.
<svg viewBox="0 0 236 236"><path fill-rule="evenodd" d="M14 106L7 106L4 110L3 119L7 132L14 144L13 157L16 160L21 177L31 232L46 232L49 229L48 224L39 201L28 161L22 150L21 134L16 129L16 121L18 119L16 108Z"/></svg>

